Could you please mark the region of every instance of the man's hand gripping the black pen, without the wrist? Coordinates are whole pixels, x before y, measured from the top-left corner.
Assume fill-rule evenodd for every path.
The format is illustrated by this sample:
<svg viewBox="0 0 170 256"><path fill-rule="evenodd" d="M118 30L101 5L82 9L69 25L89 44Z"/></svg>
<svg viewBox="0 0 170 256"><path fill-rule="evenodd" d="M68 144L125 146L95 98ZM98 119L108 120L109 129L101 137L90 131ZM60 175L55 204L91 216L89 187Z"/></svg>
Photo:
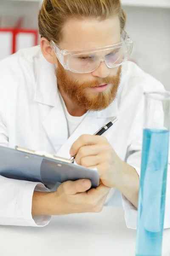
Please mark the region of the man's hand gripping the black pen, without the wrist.
<svg viewBox="0 0 170 256"><path fill-rule="evenodd" d="M97 168L105 186L119 186L124 162L118 157L105 137L82 135L72 145L70 154L71 156L76 155L77 164Z"/></svg>

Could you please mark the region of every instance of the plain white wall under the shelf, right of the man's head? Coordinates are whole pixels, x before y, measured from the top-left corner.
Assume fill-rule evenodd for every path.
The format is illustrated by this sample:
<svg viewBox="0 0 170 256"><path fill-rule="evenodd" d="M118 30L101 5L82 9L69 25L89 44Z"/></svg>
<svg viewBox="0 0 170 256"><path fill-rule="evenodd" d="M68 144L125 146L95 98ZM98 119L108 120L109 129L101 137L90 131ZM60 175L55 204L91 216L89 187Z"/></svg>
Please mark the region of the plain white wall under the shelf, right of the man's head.
<svg viewBox="0 0 170 256"><path fill-rule="evenodd" d="M132 58L170 90L170 9L124 7Z"/></svg>

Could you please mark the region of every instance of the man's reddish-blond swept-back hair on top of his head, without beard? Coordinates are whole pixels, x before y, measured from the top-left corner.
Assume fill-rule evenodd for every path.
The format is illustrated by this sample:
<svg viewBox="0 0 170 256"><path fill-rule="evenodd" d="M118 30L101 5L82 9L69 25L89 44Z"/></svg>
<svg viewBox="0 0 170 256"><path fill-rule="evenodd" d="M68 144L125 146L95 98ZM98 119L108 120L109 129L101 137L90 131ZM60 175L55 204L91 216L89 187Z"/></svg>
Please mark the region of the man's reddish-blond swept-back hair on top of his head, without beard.
<svg viewBox="0 0 170 256"><path fill-rule="evenodd" d="M41 37L62 40L62 27L71 17L105 20L118 15L121 31L125 29L126 14L120 0L44 0L38 15Z"/></svg>

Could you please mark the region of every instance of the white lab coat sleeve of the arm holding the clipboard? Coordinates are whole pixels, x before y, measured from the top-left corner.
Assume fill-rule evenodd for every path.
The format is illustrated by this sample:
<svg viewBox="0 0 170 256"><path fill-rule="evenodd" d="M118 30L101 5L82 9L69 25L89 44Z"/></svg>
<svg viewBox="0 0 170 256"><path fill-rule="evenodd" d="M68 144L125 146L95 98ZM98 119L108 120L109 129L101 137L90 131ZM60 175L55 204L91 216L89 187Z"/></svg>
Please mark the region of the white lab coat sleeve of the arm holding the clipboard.
<svg viewBox="0 0 170 256"><path fill-rule="evenodd" d="M0 108L2 111L2 108ZM3 112L4 113L4 112ZM8 146L8 134L3 116L0 113L0 145ZM36 216L32 218L32 196L36 191L48 191L37 182L13 180L0 176L0 225L45 226L51 216Z"/></svg>

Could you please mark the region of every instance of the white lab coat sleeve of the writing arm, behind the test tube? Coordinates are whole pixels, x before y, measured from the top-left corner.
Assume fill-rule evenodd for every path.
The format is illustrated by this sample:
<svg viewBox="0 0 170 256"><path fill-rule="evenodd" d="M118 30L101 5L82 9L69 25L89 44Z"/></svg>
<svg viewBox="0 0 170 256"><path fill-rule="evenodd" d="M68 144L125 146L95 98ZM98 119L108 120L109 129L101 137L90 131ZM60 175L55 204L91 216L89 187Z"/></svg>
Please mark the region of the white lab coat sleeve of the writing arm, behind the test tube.
<svg viewBox="0 0 170 256"><path fill-rule="evenodd" d="M142 140L143 140L143 109L144 102L141 104L136 119L133 124L133 141L127 152L127 163L136 169L140 177L141 173L141 158L142 158ZM167 192L165 202L165 218L164 228L170 228L170 166L167 170ZM130 201L122 195L122 204L125 210L125 221L128 228L137 228L137 209L130 203Z"/></svg>

